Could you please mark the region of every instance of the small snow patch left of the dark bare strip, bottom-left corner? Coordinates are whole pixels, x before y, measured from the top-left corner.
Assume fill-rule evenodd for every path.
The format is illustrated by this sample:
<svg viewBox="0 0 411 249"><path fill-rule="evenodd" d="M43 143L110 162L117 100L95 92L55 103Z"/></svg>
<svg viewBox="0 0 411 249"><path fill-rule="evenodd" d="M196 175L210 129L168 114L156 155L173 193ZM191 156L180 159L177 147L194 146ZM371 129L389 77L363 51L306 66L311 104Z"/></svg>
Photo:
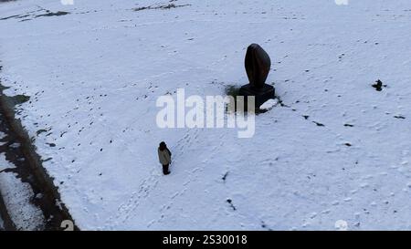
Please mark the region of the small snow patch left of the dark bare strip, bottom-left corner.
<svg viewBox="0 0 411 249"><path fill-rule="evenodd" d="M0 154L0 165L5 169L15 168L12 163L5 160L4 153ZM34 193L29 183L21 182L14 172L0 172L0 194L3 196L5 208L17 230L42 229L44 216L41 210L31 202ZM0 222L0 228L2 228L3 221Z"/></svg>

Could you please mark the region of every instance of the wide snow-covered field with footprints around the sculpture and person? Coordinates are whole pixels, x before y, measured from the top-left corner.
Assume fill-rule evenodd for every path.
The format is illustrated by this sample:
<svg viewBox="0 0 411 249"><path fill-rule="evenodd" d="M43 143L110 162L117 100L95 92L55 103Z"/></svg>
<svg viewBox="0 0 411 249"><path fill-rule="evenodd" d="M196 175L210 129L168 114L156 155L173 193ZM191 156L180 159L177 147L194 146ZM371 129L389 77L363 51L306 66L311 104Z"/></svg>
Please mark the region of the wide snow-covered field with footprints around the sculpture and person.
<svg viewBox="0 0 411 249"><path fill-rule="evenodd" d="M409 0L21 0L0 77L81 229L409 230L410 31ZM253 138L157 128L160 96L247 84L251 43L285 104Z"/></svg>

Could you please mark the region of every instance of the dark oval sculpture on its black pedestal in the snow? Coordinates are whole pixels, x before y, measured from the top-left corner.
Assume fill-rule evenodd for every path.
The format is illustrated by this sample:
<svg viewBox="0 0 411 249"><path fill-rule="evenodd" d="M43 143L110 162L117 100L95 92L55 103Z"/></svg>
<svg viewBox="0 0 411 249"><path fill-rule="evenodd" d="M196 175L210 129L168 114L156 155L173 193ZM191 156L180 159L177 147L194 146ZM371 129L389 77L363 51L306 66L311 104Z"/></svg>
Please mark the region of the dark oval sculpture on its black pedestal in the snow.
<svg viewBox="0 0 411 249"><path fill-rule="evenodd" d="M259 108L267 100L275 98L274 87L266 84L271 60L262 47L258 44L251 44L248 46L244 64L249 84L240 88L239 95L244 96L245 101L248 96L254 96L256 108Z"/></svg>

